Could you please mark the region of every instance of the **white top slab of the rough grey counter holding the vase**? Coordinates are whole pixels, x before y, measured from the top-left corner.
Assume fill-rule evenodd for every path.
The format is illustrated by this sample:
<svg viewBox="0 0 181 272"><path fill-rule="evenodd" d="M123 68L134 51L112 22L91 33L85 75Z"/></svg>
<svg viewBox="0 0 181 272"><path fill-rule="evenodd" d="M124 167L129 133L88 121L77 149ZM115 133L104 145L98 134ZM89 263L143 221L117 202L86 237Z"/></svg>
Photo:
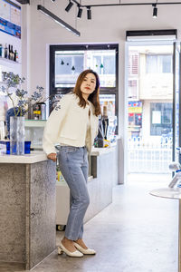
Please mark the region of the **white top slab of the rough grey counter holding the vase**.
<svg viewBox="0 0 181 272"><path fill-rule="evenodd" d="M7 155L0 154L0 163L35 163L47 160L43 151L32 151L31 154L24 155Z"/></svg>

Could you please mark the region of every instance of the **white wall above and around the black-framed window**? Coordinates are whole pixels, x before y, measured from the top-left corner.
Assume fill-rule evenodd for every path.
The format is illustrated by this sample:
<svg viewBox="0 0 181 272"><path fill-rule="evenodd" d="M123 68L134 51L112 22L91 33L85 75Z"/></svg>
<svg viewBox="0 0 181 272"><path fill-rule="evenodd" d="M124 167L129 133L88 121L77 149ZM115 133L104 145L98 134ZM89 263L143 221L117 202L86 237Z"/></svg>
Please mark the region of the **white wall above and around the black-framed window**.
<svg viewBox="0 0 181 272"><path fill-rule="evenodd" d="M128 2L136 3L141 0L129 0ZM100 3L111 3L111 1L100 0ZM67 0L56 0L54 4L50 0L44 0L44 6L52 13L60 16L62 20L73 27L77 24L81 37L71 34L61 25L54 23L49 17L37 11L37 5L43 5L43 1L31 0L31 5L26 5L24 8L27 13L26 17L29 18L28 25L30 27L28 31L29 44L27 44L27 39L23 40L24 46L29 47L28 63L24 63L25 71L27 71L27 66L29 67L27 73L30 82L29 91L33 92L36 85L46 86L46 76L49 70L46 44L119 43L119 135L123 139L126 30L175 28L178 30L179 38L181 36L181 5L158 5L157 19L152 18L153 8L151 5L97 7L92 8L92 19L87 20L86 10L83 10L81 19L75 19L77 13L75 8L72 8L69 13L65 12L64 8L67 4ZM46 87L48 92L48 86Z"/></svg>

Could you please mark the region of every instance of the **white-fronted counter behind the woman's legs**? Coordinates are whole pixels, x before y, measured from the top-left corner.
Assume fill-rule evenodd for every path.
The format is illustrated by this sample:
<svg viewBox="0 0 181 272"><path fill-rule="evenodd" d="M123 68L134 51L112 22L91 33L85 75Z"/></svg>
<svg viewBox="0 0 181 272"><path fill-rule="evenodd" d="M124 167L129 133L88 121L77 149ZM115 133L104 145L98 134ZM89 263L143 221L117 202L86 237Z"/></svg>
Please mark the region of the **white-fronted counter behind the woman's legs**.
<svg viewBox="0 0 181 272"><path fill-rule="evenodd" d="M112 202L112 188L118 184L118 145L110 148L93 148L90 153L88 191L90 206L84 222L92 219ZM56 183L56 224L65 225L69 214L69 188L66 182ZM63 207L63 209L61 209Z"/></svg>

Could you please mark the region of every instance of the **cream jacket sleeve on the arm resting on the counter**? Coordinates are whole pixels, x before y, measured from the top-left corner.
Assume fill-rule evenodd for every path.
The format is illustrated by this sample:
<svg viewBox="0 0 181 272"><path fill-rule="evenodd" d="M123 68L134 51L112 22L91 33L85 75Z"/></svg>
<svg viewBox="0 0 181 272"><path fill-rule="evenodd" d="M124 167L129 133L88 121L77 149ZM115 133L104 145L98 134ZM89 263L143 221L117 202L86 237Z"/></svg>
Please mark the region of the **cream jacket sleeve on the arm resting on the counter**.
<svg viewBox="0 0 181 272"><path fill-rule="evenodd" d="M54 145L57 143L62 121L67 114L70 104L71 95L64 95L46 121L43 131L43 151L46 154L56 153Z"/></svg>

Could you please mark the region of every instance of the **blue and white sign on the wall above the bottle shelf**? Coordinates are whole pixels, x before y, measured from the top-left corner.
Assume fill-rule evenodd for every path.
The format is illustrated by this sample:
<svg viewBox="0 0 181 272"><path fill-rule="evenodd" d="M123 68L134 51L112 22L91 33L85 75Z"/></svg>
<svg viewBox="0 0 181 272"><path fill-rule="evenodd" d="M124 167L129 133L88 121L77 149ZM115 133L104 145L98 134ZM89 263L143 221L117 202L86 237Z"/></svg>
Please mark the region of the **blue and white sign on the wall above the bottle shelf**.
<svg viewBox="0 0 181 272"><path fill-rule="evenodd" d="M0 31L21 39L21 6L0 0Z"/></svg>

